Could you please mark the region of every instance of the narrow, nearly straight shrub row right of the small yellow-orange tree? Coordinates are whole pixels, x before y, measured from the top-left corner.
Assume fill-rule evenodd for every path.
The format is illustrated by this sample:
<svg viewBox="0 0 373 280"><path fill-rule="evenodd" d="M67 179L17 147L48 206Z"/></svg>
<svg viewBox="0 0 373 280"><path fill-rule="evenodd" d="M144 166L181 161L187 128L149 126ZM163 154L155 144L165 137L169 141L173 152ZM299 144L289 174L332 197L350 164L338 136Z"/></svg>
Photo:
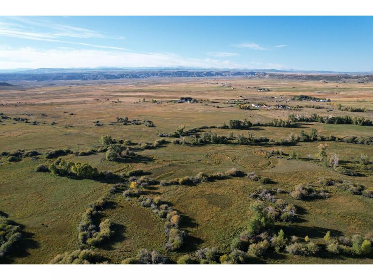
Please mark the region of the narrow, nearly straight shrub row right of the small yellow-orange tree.
<svg viewBox="0 0 373 280"><path fill-rule="evenodd" d="M169 181L162 180L160 181L161 186L169 186L169 185L194 185L199 184L201 182L208 182L212 180L223 180L228 177L241 177L245 175L244 172L237 170L236 168L229 169L225 172L215 172L212 174L199 172L195 176L185 176L176 179L172 179Z"/></svg>

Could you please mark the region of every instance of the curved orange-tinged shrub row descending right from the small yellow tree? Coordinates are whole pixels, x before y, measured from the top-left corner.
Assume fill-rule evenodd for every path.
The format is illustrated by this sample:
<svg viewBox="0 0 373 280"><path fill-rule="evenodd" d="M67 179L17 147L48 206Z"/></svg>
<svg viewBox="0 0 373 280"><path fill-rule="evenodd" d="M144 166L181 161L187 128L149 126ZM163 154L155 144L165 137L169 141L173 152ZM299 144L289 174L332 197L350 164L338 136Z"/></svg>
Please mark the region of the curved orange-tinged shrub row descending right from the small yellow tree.
<svg viewBox="0 0 373 280"><path fill-rule="evenodd" d="M164 248L168 251L175 251L181 248L186 233L184 230L179 229L181 223L179 213L166 203L160 200L153 200L150 197L140 196L137 201L141 203L142 207L152 209L154 214L165 220L164 231L168 236L168 240Z"/></svg>

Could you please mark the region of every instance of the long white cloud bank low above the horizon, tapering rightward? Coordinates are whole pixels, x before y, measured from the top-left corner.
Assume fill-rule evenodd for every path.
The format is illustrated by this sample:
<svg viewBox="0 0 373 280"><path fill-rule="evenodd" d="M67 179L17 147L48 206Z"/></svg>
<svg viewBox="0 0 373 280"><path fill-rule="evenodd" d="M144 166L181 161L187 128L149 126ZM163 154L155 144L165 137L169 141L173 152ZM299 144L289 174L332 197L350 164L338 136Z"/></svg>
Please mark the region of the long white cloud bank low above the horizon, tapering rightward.
<svg viewBox="0 0 373 280"><path fill-rule="evenodd" d="M10 48L0 46L1 68L69 68L69 67L201 67L201 68L273 68L283 65L250 62L234 63L230 60L197 59L182 57L174 53L137 53L122 50L97 49L48 49L31 47Z"/></svg>

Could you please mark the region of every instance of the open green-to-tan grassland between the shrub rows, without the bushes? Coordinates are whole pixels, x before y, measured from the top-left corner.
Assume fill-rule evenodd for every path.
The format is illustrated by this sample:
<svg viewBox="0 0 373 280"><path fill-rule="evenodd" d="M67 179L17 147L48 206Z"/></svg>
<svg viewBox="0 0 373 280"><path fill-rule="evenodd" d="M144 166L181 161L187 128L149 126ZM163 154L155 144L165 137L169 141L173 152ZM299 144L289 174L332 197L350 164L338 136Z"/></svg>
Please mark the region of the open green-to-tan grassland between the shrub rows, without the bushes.
<svg viewBox="0 0 373 280"><path fill-rule="evenodd" d="M221 83L232 83L232 87L221 87ZM139 87L142 89L137 90ZM273 91L261 92L254 87L270 88ZM322 109L301 108L294 111L265 108L241 110L226 102L245 98L250 105L315 105L314 102L306 100L288 100L295 94L325 97L330 98L331 103L373 109L372 85L356 82L169 78L123 81L115 84L72 83L32 87L25 91L0 91L0 104L3 105L0 106L0 112L10 118L26 117L31 122L1 119L0 152L13 152L17 149L40 152L68 148L79 151L97 149L101 146L101 135L131 140L133 143L153 142L160 139L159 133L175 131L179 125L185 125L185 128L189 129L200 125L218 126L229 119L264 122L274 118L285 119L290 113L304 116L317 113L324 116L350 115L373 118L373 112L339 111L331 103L317 103L323 107ZM206 101L170 102L181 96ZM283 99L277 102L280 96ZM105 98L109 101L105 101ZM139 102L143 98L147 102ZM151 99L156 99L158 103L148 102ZM155 127L143 124L123 125L115 122L116 116L128 116L130 120L149 119ZM33 121L37 121L38 124L33 125ZM56 124L50 125L53 121ZM96 126L95 121L100 121L103 125ZM255 127L250 131L256 136L279 139L287 137L290 133L298 134L301 130L308 132L311 128L326 136L372 136L372 127L318 122L298 123L297 127L291 128ZM234 136L248 132L219 128L205 131L209 130L223 136L228 136L231 132ZM196 175L198 172L224 172L237 168L246 173L256 172L258 175L266 176L270 178L271 183L263 186L247 177L233 177L194 186L157 184L144 189L144 195L167 202L181 214L181 227L188 237L184 246L176 252L167 252L164 249L166 234L162 219L154 215L150 209L141 207L135 198L126 201L120 192L110 195L110 207L104 209L102 215L115 223L115 235L108 242L92 249L112 263L120 263L125 258L135 256L141 248L157 250L172 262L181 255L194 254L196 250L204 247L214 246L221 254L229 253L232 239L245 230L252 217L252 200L249 196L257 189L276 187L293 190L297 184L316 181L321 177L360 183L367 188L373 187L372 171L364 171L363 176L352 177L322 166L315 156L317 146L323 143L321 141L283 146L283 158L278 158L268 157L263 151L280 147L264 143L183 146L172 144L173 138L166 140L165 144L156 149L143 150L137 145L130 146L138 157L114 162L107 161L105 153L98 152L87 156L70 154L62 158L74 162L87 162L99 171L112 171L117 175L133 169L143 169L147 176L156 180L171 180ZM370 145L341 141L328 144L328 155L337 153L339 164L349 169L358 170L361 154L373 157L373 146ZM287 159L291 150L298 154L299 159ZM106 195L113 183L122 181L120 178L76 179L35 172L37 165L49 165L54 160L39 155L9 162L7 156L1 157L0 214L21 225L24 235L20 245L12 253L0 258L1 263L44 264L60 253L81 248L78 243L78 223L88 204ZM283 228L288 237L293 234L301 238L308 235L320 246L324 246L323 236L327 231L335 236L364 235L373 231L373 199L351 195L347 191L335 188L330 188L330 194L329 198L312 201L295 200L290 195L283 195L283 199L294 203L300 210L298 221L276 223L276 228ZM269 254L255 262L373 264L373 259L372 256L348 257L328 253L322 256L291 256L280 253Z"/></svg>

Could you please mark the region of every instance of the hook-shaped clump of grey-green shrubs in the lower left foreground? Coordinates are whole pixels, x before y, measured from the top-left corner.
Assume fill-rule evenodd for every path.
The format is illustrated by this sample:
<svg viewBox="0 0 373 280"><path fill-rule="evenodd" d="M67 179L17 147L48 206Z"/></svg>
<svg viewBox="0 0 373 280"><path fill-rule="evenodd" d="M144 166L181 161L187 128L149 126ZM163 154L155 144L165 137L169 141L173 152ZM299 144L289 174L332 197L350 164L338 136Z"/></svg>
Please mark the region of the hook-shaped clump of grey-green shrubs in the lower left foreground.
<svg viewBox="0 0 373 280"><path fill-rule="evenodd" d="M106 197L103 197L91 203L88 209L82 215L78 226L78 240L81 244L97 246L113 235L113 224L110 219L102 221L98 227L93 222L95 216L97 216L97 214L102 211L106 205L107 199Z"/></svg>

